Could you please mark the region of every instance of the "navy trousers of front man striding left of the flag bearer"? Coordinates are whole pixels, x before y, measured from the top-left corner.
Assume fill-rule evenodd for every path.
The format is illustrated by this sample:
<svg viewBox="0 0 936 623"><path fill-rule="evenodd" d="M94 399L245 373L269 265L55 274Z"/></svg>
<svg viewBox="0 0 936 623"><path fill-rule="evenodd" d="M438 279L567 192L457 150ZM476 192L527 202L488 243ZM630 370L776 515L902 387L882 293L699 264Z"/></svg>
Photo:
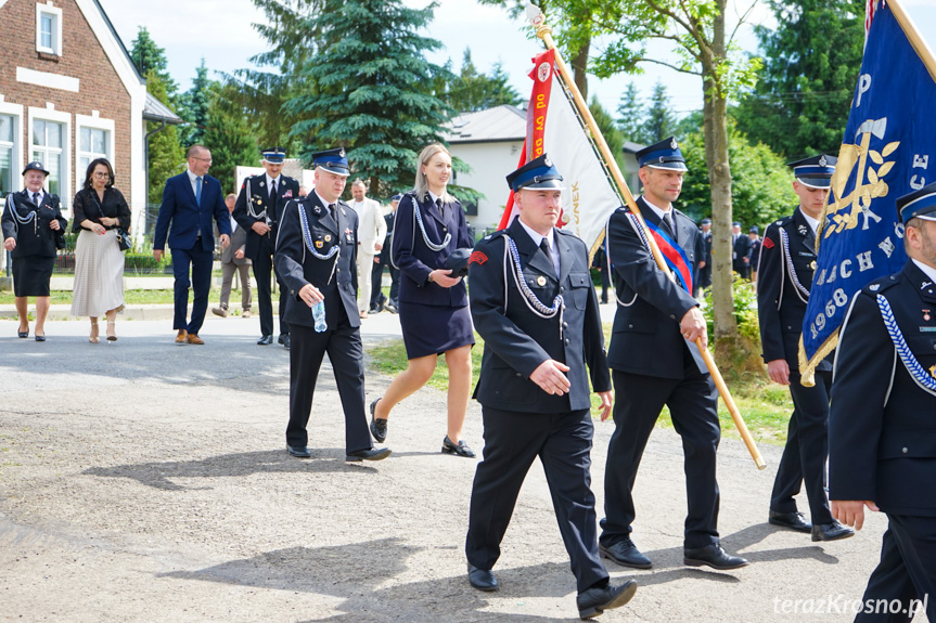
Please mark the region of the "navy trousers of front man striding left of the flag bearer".
<svg viewBox="0 0 936 623"><path fill-rule="evenodd" d="M518 413L485 406L482 416L484 460L472 488L465 542L469 562L478 569L491 569L497 562L521 485L539 456L578 592L607 579L597 546L590 477L594 429L589 410Z"/></svg>

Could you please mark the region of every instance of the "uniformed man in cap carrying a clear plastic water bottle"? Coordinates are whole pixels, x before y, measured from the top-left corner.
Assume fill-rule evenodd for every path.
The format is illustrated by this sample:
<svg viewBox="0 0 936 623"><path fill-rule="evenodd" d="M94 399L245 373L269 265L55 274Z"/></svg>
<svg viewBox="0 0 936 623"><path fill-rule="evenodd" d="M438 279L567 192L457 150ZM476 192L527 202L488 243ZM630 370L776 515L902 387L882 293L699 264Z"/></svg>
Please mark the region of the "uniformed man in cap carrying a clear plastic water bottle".
<svg viewBox="0 0 936 623"><path fill-rule="evenodd" d="M341 147L312 154L316 187L286 204L277 238L277 273L287 287L290 349L289 453L309 458L306 426L325 353L335 373L345 414L345 459L380 460L388 447L371 445L364 413L364 364L358 314L358 216L341 200L350 174ZM313 308L324 302L324 327Z"/></svg>

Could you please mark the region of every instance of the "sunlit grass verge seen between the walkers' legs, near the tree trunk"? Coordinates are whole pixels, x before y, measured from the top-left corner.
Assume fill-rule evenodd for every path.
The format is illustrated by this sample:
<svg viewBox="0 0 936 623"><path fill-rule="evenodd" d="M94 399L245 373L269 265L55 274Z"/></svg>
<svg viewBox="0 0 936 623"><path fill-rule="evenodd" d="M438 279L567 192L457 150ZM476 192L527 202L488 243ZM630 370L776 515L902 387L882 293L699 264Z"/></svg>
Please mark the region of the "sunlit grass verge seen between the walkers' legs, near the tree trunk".
<svg viewBox="0 0 936 623"><path fill-rule="evenodd" d="M611 327L605 325L605 335L611 335ZM484 340L475 334L477 345L472 349L472 387L477 384L480 372L480 358L484 352ZM402 340L390 340L380 346L368 349L371 356L371 369L395 376L407 367L407 353ZM728 388L738 404L747 429L754 439L760 443L783 445L786 442L786 427L790 414L793 412L793 401L790 391L782 386L770 382L766 373L762 376L742 376L739 379L728 380ZM448 388L448 372L445 358L439 358L436 371L429 378L429 387L435 389ZM592 394L592 414L598 417L598 397ZM718 402L718 416L721 420L722 433L726 438L740 439L734 421L728 413L725 403ZM664 407L657 426L672 428L669 410Z"/></svg>

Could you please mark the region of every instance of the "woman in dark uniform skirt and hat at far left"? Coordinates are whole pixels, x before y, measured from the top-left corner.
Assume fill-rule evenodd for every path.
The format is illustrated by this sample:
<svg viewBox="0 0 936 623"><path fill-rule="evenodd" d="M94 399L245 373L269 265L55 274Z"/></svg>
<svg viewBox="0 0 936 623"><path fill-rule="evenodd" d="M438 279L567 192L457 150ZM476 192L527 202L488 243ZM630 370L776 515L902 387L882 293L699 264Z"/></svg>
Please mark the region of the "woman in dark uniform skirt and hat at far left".
<svg viewBox="0 0 936 623"><path fill-rule="evenodd" d="M42 163L26 165L23 169L26 190L7 196L0 219L3 248L13 254L13 295L20 314L16 335L29 337L28 297L36 297L36 341L46 341L49 282L57 255L55 243L68 224L62 217L57 195L42 190L48 174Z"/></svg>

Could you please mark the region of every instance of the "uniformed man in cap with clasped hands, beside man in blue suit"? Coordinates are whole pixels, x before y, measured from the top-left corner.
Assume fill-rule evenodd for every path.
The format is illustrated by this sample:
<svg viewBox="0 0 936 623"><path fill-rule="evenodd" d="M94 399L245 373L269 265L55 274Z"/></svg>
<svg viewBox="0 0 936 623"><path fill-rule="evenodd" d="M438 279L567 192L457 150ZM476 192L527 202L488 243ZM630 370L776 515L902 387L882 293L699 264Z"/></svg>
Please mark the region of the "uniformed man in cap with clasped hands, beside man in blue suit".
<svg viewBox="0 0 936 623"><path fill-rule="evenodd" d="M286 151L283 147L264 150L266 172L244 180L232 216L247 232L244 255L254 267L257 280L257 306L260 309L260 339L258 345L273 343L273 302L270 275L273 272L277 232L283 208L291 199L299 197L299 182L281 174ZM251 199L247 200L249 195ZM283 319L286 312L286 288L277 275L280 285L280 338L279 342L290 348L290 325Z"/></svg>

